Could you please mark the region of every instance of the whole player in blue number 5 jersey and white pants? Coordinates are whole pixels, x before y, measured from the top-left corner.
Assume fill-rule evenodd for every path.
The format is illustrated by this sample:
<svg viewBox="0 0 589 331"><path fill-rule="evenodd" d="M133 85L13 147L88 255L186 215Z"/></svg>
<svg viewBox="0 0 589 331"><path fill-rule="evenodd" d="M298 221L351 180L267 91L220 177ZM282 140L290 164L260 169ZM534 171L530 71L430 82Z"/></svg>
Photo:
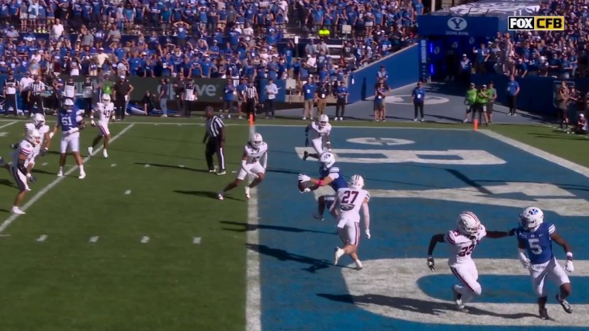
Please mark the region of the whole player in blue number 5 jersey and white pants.
<svg viewBox="0 0 589 331"><path fill-rule="evenodd" d="M519 216L520 226L516 230L518 243L518 259L529 271L534 291L538 295L538 312L541 319L550 319L546 309L547 293L546 278L560 287L560 294L556 301L560 303L566 313L573 313L573 308L566 301L571 295L571 281L566 272L573 272L573 253L571 246L556 232L556 226L544 223L544 212L538 207L527 207ZM566 264L564 269L557 263L552 252L552 242L564 248ZM527 253L527 256L526 256Z"/></svg>

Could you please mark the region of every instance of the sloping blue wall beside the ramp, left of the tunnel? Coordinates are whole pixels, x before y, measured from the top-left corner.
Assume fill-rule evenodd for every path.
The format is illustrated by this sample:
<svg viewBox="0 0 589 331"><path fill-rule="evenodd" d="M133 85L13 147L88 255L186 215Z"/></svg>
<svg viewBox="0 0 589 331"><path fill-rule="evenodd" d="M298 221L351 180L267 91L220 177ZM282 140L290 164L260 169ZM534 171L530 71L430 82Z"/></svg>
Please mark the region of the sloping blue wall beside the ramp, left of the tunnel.
<svg viewBox="0 0 589 331"><path fill-rule="evenodd" d="M377 72L385 66L388 86L400 88L419 80L419 47L414 44L384 59L369 64L350 75L348 103L355 103L374 96Z"/></svg>

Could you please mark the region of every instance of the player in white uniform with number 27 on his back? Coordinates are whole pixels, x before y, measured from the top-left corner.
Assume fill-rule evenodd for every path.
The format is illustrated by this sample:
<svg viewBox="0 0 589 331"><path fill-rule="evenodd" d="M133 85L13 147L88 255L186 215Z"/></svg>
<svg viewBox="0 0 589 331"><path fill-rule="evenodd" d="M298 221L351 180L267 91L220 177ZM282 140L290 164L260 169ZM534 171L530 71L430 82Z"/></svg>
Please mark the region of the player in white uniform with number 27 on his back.
<svg viewBox="0 0 589 331"><path fill-rule="evenodd" d="M338 189L334 213L338 220L338 234L344 245L336 247L334 265L338 264L344 254L349 254L356 265L356 269L362 269L362 262L358 259L358 245L360 245L360 209L364 215L364 234L370 239L370 211L368 200L370 194L364 187L364 178L359 174L351 177L349 187Z"/></svg>

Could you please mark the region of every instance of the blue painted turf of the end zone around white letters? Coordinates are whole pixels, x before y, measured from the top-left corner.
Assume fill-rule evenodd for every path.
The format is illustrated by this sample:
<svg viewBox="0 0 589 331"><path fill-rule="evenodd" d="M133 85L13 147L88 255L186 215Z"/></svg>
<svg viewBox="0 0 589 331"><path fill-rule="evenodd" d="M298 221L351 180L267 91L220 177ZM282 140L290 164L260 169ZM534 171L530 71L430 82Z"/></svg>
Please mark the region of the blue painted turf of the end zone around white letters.
<svg viewBox="0 0 589 331"><path fill-rule="evenodd" d="M456 325L435 325L392 319L370 313L361 308L362 300L352 296L342 276L342 267L332 265L334 247L340 245L334 222L326 215L325 221L312 218L316 202L312 194L300 194L295 183L299 173L316 176L318 163L303 162L294 150L303 146L304 128L258 127L270 147L269 169L266 181L258 190L260 213L260 245L250 249L260 252L260 282L262 286L262 328L264 330L337 330L347 329L431 329L456 330ZM535 157L522 150L494 140L473 131L412 130L412 129L360 129L334 127L331 137L334 151L338 149L358 150L342 153L340 157L371 158L378 155L363 155L362 150L486 150L491 155L505 160L503 164L452 165L438 163L353 163L338 162L344 176L362 174L366 189L375 190L418 190L434 189L473 190L475 194L490 193L489 187L505 183L551 183L574 196L569 198L589 199L589 178L579 176L571 170ZM414 144L388 146L386 144L357 144L347 142L351 138L381 137L412 140ZM399 152L400 153L400 152ZM457 159L455 156L421 159ZM459 158L460 159L460 158ZM466 191L467 194L470 194ZM576 197L575 197L576 196ZM521 192L494 194L492 198L533 200ZM558 197L542 197L558 198ZM427 269L425 256L429 238L454 228L455 216L463 210L472 210L479 215L488 230L507 230L517 225L517 215L525 201L511 206L473 204L449 200L423 198L374 197L371 200L371 232L368 241L362 237L360 259L421 259L415 269ZM538 203L542 208L542 204ZM585 216L562 216L544 210L546 220L554 222L557 230L568 239L574 248L576 260L589 259L589 244L585 237L589 233ZM562 249L555 247L555 254L561 261ZM445 263L447 251L444 244L436 248L439 264ZM473 257L477 259L515 259L514 237L484 239L477 246ZM344 265L351 263L344 257ZM365 267L362 273L370 273ZM390 269L390 282L395 282L397 270ZM571 277L573 296L571 304L585 304L583 293L587 293L586 277ZM586 276L586 275L584 275ZM479 280L483 295L475 302L510 302L534 304L536 299L528 277L482 275ZM451 304L449 284L455 280L449 274L431 273L421 278L418 286L431 297L448 300ZM554 287L549 287L551 299ZM406 301L399 303L388 293L375 291L370 300L400 310L412 310L416 304ZM408 295L411 297L410 293ZM377 299L375 299L375 297ZM360 302L360 303L359 303ZM551 302L554 303L554 302ZM451 306L451 305L447 305ZM436 308L437 309L437 308ZM521 313L536 314L537 310L523 310ZM427 314L427 309L425 310ZM466 316L465 318L471 318ZM539 321L539 320L538 320ZM453 321L460 325L460 320ZM514 324L517 324L514 322ZM538 323L540 324L540 323ZM558 324L555 324L558 325ZM468 328L464 326L464 328ZM496 330L497 326L477 326L477 330ZM519 327L501 327L518 328ZM534 328L534 330L539 329ZM571 330L571 327L563 327Z"/></svg>

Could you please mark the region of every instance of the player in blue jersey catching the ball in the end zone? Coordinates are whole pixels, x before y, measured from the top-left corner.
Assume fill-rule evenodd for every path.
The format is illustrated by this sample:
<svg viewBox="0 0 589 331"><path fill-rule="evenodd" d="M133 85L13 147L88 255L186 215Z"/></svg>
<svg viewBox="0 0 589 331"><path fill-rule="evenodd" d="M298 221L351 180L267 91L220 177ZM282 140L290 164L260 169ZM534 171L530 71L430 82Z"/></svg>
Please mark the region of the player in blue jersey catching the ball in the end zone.
<svg viewBox="0 0 589 331"><path fill-rule="evenodd" d="M311 187L305 187L301 189L301 193L307 193L310 191L314 191L322 186L329 185L334 191L338 191L338 189L348 187L348 183L346 183L346 179L340 173L340 168L336 167L336 157L330 152L325 152L321 154L319 157L319 163L321 166L319 168L319 178L311 178L306 174L299 174L299 189L301 189L301 185L307 186L307 183L310 183ZM317 220L323 221L323 212L325 211L325 207L327 209L331 209L333 207L333 203L336 200L336 196L334 195L327 195L327 196L320 196L317 200L317 213L314 214L314 217Z"/></svg>

